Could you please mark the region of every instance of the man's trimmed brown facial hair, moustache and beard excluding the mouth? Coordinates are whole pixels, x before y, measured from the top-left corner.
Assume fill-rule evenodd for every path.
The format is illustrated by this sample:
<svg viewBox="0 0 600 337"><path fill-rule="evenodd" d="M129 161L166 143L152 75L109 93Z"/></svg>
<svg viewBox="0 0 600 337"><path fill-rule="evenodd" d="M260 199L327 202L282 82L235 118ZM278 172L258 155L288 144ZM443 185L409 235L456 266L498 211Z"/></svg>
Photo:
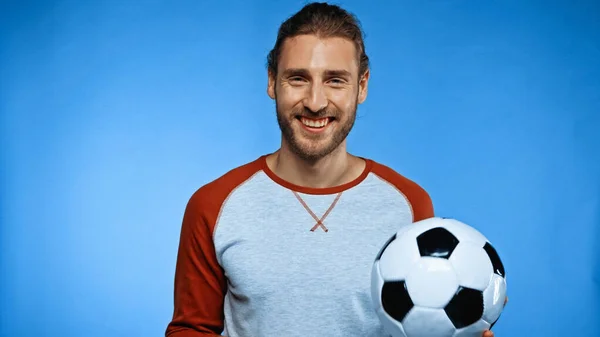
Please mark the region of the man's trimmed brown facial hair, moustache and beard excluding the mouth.
<svg viewBox="0 0 600 337"><path fill-rule="evenodd" d="M356 121L356 110L358 109L358 104L354 104L354 108L352 111L348 111L348 118L342 122L341 116L343 113L336 110L325 110L319 113L312 113L308 110L305 111L305 115L312 115L315 118L319 118L320 116L335 116L335 123L337 123L335 133L332 136L329 136L326 144L321 144L322 141L319 136L315 139L315 144L311 144L306 146L306 142L299 141L299 135L294 132L292 127L292 123L294 123L296 116L302 112L297 110L292 111L291 114L287 112L280 111L277 100L275 101L275 108L277 111L277 123L279 124L279 129L281 130L284 141L287 143L289 149L303 161L309 163L315 163L318 160L328 156L332 152L334 152L340 144L348 137L350 131L354 127L354 122ZM290 117L291 116L291 117ZM343 123L343 124L341 124ZM316 144L316 143L319 144Z"/></svg>

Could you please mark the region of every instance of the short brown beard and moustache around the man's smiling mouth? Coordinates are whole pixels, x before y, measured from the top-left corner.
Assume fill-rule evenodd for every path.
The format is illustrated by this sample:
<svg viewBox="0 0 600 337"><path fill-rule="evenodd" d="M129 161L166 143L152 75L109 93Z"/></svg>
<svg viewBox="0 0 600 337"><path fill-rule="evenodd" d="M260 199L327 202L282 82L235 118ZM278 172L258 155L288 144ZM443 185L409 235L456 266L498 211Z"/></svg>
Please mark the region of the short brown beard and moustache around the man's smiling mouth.
<svg viewBox="0 0 600 337"><path fill-rule="evenodd" d="M356 121L356 110L358 104L355 103L352 110L343 113L336 108L325 108L317 112L313 112L306 108L296 108L291 112L281 111L277 100L275 100L275 108L277 110L277 122L281 130L284 141L288 144L290 150L300 159L314 163L333 151L348 137L348 134L354 127ZM297 116L307 116L312 118L334 117L330 123L336 123L333 134L323 136L320 134L314 135L312 139L303 136L299 131L295 130L293 123L297 121ZM346 117L344 119L344 116ZM332 125L333 126L333 125ZM329 126L331 127L331 126Z"/></svg>

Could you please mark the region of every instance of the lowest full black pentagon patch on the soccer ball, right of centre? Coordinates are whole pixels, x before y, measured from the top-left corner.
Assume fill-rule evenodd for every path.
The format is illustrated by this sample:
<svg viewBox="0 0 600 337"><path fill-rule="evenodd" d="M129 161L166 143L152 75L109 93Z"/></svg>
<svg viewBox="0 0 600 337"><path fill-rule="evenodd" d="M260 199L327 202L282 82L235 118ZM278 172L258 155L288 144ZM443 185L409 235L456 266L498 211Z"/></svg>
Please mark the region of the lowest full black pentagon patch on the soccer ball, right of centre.
<svg viewBox="0 0 600 337"><path fill-rule="evenodd" d="M483 316L483 293L471 288L458 287L444 311L455 328L469 326Z"/></svg>

